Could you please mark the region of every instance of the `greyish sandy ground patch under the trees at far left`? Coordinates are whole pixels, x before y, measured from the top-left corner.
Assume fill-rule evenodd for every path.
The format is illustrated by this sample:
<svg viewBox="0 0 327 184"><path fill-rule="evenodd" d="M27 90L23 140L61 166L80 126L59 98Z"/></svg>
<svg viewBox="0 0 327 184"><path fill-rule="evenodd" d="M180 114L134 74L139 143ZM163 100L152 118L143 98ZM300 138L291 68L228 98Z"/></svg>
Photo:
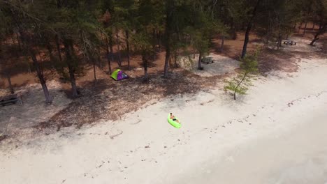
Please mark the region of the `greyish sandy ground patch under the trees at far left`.
<svg viewBox="0 0 327 184"><path fill-rule="evenodd" d="M54 114L60 112L71 103L61 91L59 82L49 81L47 86L54 98L52 105L45 105L45 98L40 84L28 84L15 89L22 98L22 105L7 105L0 109L0 135L10 135L19 132L20 135L30 133L27 128L48 121ZM1 90L5 91L5 90ZM0 91L0 92L1 92ZM23 131L26 131L23 133Z"/></svg>

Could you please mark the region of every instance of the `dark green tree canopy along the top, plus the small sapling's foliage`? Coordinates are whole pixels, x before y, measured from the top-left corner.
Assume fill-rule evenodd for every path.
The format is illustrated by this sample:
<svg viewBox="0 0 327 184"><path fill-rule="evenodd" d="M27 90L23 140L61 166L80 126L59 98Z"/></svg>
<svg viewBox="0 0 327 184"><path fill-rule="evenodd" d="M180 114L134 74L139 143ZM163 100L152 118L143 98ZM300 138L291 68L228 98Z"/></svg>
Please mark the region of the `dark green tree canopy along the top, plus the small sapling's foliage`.
<svg viewBox="0 0 327 184"><path fill-rule="evenodd" d="M121 33L125 31L129 32L130 46L135 48L133 52L145 57L153 56L155 46L166 41L166 48L170 48L171 56L176 59L181 52L189 52L190 47L205 55L217 33L226 37L245 30L257 1L0 0L0 41L13 33L19 35L18 29L31 39L29 47L24 49L55 48L56 37L61 47L69 40L73 56L67 59L66 53L62 52L66 62L54 59L58 72L67 77L68 63L74 72L82 72L84 61L94 63L101 55L101 47L108 46L108 40L110 45L115 44L113 35L119 33L124 37ZM268 40L275 40L289 35L296 23L307 20L326 27L326 0L261 1L254 30ZM102 35L108 39L103 39ZM53 52L57 54L58 51ZM241 59L240 68L245 77L235 77L235 82L229 82L230 87L226 89L234 89L237 93L246 91L242 82L247 82L247 78L257 72L257 54Z"/></svg>

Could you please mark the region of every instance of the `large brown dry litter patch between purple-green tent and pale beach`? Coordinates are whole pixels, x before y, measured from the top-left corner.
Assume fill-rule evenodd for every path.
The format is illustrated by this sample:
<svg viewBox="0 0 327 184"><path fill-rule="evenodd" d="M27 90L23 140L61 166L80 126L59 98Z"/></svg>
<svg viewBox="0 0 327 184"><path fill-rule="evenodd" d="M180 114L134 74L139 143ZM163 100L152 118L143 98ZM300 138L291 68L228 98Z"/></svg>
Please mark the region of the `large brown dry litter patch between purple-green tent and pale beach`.
<svg viewBox="0 0 327 184"><path fill-rule="evenodd" d="M163 97L176 94L196 93L217 84L219 77L198 77L187 71L175 70L170 77L150 75L150 81L142 77L115 82L101 79L85 84L82 96L68 107L52 116L36 128L57 128L96 123L101 119L115 121L122 115L150 105Z"/></svg>

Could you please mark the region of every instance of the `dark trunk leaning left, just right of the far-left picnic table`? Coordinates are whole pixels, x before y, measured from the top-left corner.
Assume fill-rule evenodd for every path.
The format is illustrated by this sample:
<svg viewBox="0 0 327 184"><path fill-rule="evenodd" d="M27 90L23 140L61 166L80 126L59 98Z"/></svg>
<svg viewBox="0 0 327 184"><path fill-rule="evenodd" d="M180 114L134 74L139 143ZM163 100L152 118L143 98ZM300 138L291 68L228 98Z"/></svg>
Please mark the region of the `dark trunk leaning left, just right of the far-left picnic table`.
<svg viewBox="0 0 327 184"><path fill-rule="evenodd" d="M43 76L42 68L38 64L38 60L36 59L36 55L35 55L34 51L32 51L31 49L29 49L29 54L31 54L31 59L33 61L33 65L34 65L34 67L36 69L36 73L38 75L38 79L40 80L40 83L41 83L41 86L42 86L42 89L43 89L43 93L45 95L45 102L48 103L48 104L50 104L52 102L52 98L51 98L51 96L49 94L47 84L45 83L45 79L44 79L44 76Z"/></svg>

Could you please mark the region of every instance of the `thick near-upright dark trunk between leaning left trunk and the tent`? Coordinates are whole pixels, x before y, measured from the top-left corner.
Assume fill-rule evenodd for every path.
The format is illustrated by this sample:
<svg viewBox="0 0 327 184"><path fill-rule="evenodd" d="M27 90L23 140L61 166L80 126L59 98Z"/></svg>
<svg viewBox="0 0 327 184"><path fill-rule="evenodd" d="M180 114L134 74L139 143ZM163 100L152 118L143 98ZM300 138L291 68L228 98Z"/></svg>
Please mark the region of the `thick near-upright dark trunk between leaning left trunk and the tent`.
<svg viewBox="0 0 327 184"><path fill-rule="evenodd" d="M75 80L75 67L73 66L73 43L71 43L71 40L64 39L64 47L66 52L66 64L68 66L68 72L69 72L69 78L71 80L71 95L73 98L78 97L78 89L76 86L76 80Z"/></svg>

